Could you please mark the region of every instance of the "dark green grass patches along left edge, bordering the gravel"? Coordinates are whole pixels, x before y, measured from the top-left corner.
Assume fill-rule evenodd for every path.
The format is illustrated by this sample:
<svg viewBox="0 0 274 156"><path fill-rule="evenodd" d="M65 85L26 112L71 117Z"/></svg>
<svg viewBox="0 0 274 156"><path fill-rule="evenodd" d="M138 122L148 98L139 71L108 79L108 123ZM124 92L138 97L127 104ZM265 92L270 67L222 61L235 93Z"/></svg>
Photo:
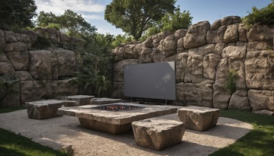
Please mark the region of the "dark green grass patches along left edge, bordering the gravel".
<svg viewBox="0 0 274 156"><path fill-rule="evenodd" d="M25 107L0 107L1 113L13 112ZM16 135L0 128L0 155L66 155L53 149L33 142L29 138Z"/></svg>

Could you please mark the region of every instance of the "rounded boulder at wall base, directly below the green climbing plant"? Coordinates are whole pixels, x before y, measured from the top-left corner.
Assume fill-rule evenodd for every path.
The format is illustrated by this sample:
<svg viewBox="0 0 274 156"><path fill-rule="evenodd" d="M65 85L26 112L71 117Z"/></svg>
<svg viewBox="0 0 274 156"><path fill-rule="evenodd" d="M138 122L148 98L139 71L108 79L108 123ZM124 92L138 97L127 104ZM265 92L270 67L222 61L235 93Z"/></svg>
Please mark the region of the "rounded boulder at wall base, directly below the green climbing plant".
<svg viewBox="0 0 274 156"><path fill-rule="evenodd" d="M247 98L247 90L237 90L236 92L234 92L229 101L228 109L250 111L251 107Z"/></svg>

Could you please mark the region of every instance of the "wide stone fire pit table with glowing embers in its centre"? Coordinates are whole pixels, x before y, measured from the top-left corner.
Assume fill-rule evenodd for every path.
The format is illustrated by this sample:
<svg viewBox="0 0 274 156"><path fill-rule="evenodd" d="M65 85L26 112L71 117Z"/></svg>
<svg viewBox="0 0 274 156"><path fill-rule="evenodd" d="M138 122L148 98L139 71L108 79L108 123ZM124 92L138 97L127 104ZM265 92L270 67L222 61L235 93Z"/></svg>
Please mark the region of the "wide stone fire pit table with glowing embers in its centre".
<svg viewBox="0 0 274 156"><path fill-rule="evenodd" d="M175 114L176 107L166 105L139 105L134 103L112 103L106 105L83 105L62 107L59 115L75 116L80 125L112 134L125 133L132 129L132 122Z"/></svg>

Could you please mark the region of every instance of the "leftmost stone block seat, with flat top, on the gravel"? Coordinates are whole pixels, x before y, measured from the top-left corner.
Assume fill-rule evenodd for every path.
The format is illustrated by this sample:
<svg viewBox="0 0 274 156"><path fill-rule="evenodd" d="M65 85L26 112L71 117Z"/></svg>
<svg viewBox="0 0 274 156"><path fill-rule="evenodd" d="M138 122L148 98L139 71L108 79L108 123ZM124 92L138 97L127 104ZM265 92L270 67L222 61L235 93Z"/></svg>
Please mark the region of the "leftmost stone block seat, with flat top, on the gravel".
<svg viewBox="0 0 274 156"><path fill-rule="evenodd" d="M58 108L75 106L75 101L43 100L25 103L27 107L27 116L33 119L46 119L60 116L57 114Z"/></svg>

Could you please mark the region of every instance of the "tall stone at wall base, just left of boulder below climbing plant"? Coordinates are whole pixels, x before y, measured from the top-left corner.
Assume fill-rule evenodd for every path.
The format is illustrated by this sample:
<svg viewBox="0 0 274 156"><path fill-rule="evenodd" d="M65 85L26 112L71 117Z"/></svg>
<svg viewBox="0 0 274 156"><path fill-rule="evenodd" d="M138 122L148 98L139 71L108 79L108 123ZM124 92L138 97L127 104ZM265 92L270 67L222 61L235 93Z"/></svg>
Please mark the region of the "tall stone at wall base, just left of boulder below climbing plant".
<svg viewBox="0 0 274 156"><path fill-rule="evenodd" d="M225 79L217 79L213 84L213 107L227 109L231 94L225 88Z"/></svg>

